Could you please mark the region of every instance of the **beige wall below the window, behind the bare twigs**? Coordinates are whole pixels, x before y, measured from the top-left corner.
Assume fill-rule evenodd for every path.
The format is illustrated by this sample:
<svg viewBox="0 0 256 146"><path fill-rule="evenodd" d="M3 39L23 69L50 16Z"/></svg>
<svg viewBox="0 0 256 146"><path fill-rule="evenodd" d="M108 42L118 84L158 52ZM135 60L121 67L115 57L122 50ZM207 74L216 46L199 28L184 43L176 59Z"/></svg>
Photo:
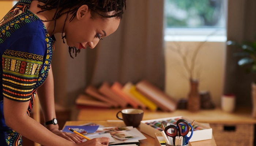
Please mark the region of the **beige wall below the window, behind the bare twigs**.
<svg viewBox="0 0 256 146"><path fill-rule="evenodd" d="M187 58L191 58L193 50L200 42L166 42L166 82L165 92L176 100L187 98L189 80L185 77L185 68L180 56L172 48L175 44L180 46L182 52L188 51ZM206 42L200 49L196 58L198 70L199 90L210 91L212 101L220 105L223 92L223 76L225 68L225 42Z"/></svg>

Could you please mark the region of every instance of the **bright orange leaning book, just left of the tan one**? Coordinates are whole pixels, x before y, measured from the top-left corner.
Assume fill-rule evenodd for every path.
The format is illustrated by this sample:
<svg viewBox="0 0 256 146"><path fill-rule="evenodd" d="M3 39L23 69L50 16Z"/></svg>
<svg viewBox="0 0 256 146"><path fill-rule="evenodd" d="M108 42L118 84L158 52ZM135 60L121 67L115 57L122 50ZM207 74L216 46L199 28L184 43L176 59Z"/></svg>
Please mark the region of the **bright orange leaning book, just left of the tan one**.
<svg viewBox="0 0 256 146"><path fill-rule="evenodd" d="M115 81L114 84L111 86L113 92L115 92L118 96L122 97L127 103L129 103L133 108L138 108L138 104L129 98L125 93L122 91L123 85L120 82Z"/></svg>

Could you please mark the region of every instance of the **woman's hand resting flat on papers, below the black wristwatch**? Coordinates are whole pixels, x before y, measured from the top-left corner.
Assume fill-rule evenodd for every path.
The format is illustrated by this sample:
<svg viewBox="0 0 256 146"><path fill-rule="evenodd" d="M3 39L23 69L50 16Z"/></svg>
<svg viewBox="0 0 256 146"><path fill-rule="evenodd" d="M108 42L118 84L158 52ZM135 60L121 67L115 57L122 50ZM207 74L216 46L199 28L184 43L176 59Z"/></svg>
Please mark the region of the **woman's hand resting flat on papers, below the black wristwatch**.
<svg viewBox="0 0 256 146"><path fill-rule="evenodd" d="M84 140L84 138L81 137L80 135L70 133L70 132L62 132L57 128L53 128L50 131L52 131L56 135L59 135L60 137L63 137L65 139L75 142L75 143L81 143Z"/></svg>

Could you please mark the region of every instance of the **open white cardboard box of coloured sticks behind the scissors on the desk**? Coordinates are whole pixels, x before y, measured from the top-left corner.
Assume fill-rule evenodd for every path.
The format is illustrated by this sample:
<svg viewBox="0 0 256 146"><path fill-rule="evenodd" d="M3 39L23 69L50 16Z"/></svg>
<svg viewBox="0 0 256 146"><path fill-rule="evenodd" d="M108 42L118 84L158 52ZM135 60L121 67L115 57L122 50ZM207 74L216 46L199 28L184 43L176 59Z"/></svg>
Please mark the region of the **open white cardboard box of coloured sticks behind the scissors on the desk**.
<svg viewBox="0 0 256 146"><path fill-rule="evenodd" d="M140 131L155 138L155 133L161 133L161 131L159 131L151 126L148 126L145 123L147 123L147 122L152 123L154 121L159 121L161 123L163 120L170 120L170 119L176 119L176 118L184 119L188 123L193 122L193 120L191 120L189 118L182 117L182 116L175 116L175 117L161 118L161 119L152 119L152 120L143 120L140 122ZM196 121L194 122L194 125L200 126L204 129L194 130L193 135L192 135L191 139L189 140L189 142L203 141L203 140L212 138L212 128L211 127L205 126L204 124L198 123ZM191 131L189 131L188 135L190 135L190 133L191 133Z"/></svg>

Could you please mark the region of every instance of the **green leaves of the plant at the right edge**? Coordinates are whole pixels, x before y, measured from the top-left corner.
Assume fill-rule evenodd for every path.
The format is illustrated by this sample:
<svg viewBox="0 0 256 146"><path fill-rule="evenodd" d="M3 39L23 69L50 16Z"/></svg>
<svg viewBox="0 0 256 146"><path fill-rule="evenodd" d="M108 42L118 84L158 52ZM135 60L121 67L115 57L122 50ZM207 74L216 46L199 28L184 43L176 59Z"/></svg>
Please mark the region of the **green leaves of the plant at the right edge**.
<svg viewBox="0 0 256 146"><path fill-rule="evenodd" d="M237 64L239 66L247 67L247 73L256 73L256 35L254 41L246 41L238 43L237 41L227 41L228 46L236 46L242 51L234 53L234 56L240 57Z"/></svg>

